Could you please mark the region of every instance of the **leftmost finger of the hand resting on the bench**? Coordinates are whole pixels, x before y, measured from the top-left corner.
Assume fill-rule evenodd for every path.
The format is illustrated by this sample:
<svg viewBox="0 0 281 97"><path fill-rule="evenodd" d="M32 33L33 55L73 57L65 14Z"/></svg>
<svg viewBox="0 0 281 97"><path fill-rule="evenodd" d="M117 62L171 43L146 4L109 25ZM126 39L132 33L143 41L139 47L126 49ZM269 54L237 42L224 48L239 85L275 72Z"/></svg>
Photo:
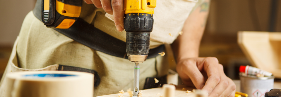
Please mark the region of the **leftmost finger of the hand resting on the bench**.
<svg viewBox="0 0 281 97"><path fill-rule="evenodd" d="M187 70L184 70L185 74L190 77L194 86L197 89L202 89L202 86L204 86L205 80L204 80L204 76L197 68L196 61L195 60L186 60L186 61L184 61L183 64L184 65L182 65L183 66L182 68L187 69Z"/></svg>

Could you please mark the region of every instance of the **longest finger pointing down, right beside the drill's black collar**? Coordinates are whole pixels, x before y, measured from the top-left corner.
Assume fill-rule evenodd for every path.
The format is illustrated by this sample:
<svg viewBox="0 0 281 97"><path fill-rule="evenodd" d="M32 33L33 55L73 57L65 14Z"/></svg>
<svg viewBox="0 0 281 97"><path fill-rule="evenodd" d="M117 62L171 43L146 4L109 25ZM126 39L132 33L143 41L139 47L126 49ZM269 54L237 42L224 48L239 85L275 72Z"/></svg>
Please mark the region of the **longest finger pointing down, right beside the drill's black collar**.
<svg viewBox="0 0 281 97"><path fill-rule="evenodd" d="M111 4L116 29L121 32L124 30L124 0L112 0Z"/></svg>

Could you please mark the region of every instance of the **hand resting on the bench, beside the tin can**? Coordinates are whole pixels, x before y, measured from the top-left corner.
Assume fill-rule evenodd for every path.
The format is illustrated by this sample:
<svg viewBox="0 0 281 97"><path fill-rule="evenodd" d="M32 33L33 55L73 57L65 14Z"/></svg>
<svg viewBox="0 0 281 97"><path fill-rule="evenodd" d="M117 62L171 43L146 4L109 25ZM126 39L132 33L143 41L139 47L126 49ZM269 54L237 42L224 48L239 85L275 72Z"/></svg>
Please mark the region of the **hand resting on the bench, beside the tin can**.
<svg viewBox="0 0 281 97"><path fill-rule="evenodd" d="M210 97L234 97L236 85L228 78L217 58L187 58L177 64L185 85L206 91ZM193 84L192 84L193 83Z"/></svg>

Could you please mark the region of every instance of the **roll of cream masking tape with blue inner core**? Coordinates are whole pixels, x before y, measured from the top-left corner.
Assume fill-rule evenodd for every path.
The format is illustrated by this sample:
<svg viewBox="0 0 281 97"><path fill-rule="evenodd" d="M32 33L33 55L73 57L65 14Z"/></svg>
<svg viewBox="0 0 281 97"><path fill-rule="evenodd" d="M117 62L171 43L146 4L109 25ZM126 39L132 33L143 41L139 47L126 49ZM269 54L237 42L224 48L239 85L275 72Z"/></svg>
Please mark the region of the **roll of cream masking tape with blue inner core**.
<svg viewBox="0 0 281 97"><path fill-rule="evenodd" d="M92 97L94 75L76 71L8 73L7 97Z"/></svg>

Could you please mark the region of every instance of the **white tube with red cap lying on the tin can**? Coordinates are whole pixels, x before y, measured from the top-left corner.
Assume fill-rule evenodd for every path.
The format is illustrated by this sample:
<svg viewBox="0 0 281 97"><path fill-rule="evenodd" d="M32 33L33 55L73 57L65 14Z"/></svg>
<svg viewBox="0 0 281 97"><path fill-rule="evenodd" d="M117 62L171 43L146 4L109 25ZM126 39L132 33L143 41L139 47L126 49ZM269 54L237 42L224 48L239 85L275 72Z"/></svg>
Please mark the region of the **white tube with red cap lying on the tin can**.
<svg viewBox="0 0 281 97"><path fill-rule="evenodd" d="M257 74L261 74L261 75L264 75L264 76L271 76L272 75L272 73L270 73L270 72L258 69L256 67L251 67L249 65L240 66L239 71L243 72L243 73L246 73L247 75L255 75L255 76Z"/></svg>

